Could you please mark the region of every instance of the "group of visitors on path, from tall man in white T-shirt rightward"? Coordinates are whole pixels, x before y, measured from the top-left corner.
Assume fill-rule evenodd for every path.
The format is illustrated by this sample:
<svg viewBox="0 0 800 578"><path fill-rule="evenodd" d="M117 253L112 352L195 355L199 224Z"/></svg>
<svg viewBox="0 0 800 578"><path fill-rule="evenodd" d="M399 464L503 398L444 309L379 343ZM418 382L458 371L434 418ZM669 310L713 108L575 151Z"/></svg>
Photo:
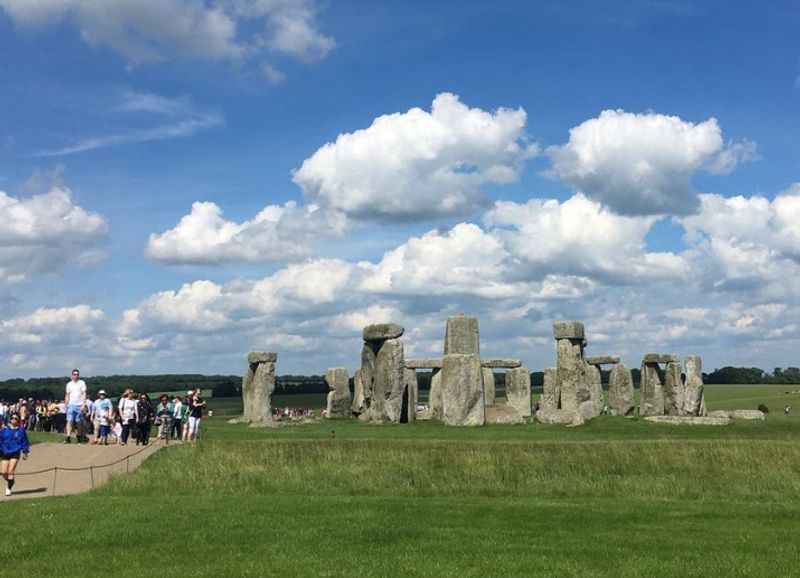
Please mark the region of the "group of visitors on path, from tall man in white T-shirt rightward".
<svg viewBox="0 0 800 578"><path fill-rule="evenodd" d="M158 426L158 437L165 443L170 439L195 441L207 407L199 389L187 391L183 399L180 396L170 399L163 394L156 405L146 393L137 396L131 388L125 390L116 405L102 389L92 401L77 369L72 371L72 378L66 385L64 403L67 406L65 443L70 443L73 431L85 427L83 421L88 421L94 433L92 443L108 445L113 436L123 446L131 435L136 445L149 444L154 424Z"/></svg>

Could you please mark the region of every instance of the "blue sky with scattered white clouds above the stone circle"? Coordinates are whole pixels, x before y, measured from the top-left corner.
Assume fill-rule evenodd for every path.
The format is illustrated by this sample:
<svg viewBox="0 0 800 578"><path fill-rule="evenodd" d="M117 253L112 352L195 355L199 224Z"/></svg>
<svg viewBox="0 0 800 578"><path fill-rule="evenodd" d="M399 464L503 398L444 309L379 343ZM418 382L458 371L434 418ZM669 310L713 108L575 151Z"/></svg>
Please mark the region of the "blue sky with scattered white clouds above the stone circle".
<svg viewBox="0 0 800 578"><path fill-rule="evenodd" d="M0 374L796 365L796 3L498 4L0 0Z"/></svg>

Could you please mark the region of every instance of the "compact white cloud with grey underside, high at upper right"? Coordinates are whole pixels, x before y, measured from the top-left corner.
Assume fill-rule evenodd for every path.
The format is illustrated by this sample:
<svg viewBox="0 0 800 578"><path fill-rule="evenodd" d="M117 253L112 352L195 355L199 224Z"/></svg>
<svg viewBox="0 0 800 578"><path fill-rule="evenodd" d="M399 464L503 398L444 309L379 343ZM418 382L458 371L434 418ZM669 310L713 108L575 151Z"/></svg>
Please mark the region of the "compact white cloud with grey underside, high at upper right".
<svg viewBox="0 0 800 578"><path fill-rule="evenodd" d="M722 138L715 118L605 110L547 149L551 173L621 214L685 215L698 208L691 177L701 169L730 172L756 156L750 141Z"/></svg>

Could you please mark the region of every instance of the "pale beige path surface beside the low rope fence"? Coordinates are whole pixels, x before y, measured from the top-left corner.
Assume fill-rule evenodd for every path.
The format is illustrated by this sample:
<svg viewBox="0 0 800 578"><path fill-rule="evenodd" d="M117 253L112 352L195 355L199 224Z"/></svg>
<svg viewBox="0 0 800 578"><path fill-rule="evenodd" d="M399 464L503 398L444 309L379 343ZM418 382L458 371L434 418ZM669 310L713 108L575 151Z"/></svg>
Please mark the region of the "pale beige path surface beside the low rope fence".
<svg viewBox="0 0 800 578"><path fill-rule="evenodd" d="M28 459L20 460L17 465L17 481L11 496L3 495L5 480L0 479L0 502L87 492L105 484L112 476L134 471L162 447L160 440L147 446L34 444Z"/></svg>

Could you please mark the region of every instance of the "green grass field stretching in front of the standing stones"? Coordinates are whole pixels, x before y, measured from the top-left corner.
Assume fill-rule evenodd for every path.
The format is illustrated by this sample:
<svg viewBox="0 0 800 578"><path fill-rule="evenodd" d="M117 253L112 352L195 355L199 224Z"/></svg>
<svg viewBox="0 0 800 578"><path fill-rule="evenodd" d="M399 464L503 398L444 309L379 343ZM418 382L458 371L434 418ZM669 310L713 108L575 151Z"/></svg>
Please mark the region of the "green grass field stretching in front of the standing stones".
<svg viewBox="0 0 800 578"><path fill-rule="evenodd" d="M0 505L0 574L800 576L798 389L707 386L710 410L772 411L726 427L257 430L215 400L196 448Z"/></svg>

